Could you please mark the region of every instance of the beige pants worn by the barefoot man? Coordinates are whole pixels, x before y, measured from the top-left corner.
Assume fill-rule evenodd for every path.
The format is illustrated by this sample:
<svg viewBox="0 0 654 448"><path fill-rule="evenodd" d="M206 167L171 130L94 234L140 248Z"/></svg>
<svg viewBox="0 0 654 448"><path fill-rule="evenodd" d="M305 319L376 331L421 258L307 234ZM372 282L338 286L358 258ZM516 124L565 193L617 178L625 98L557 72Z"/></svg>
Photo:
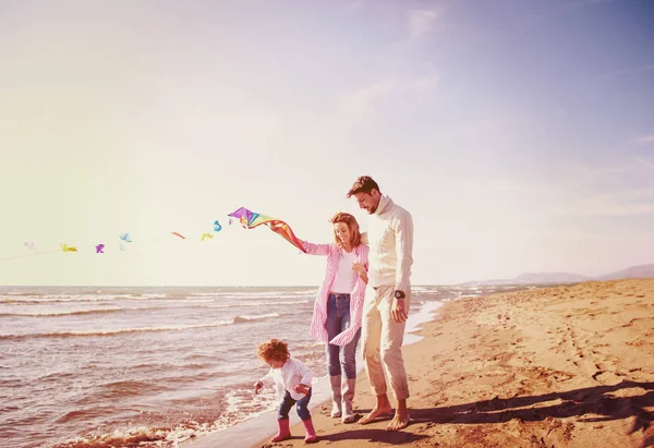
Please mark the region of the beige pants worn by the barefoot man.
<svg viewBox="0 0 654 448"><path fill-rule="evenodd" d="M393 286L366 288L361 332L363 361L375 396L387 393L384 377L386 371L396 398L405 400L409 398L409 385L402 359L405 323L395 322L390 314L395 300L393 292ZM404 302L409 313L409 292Z"/></svg>

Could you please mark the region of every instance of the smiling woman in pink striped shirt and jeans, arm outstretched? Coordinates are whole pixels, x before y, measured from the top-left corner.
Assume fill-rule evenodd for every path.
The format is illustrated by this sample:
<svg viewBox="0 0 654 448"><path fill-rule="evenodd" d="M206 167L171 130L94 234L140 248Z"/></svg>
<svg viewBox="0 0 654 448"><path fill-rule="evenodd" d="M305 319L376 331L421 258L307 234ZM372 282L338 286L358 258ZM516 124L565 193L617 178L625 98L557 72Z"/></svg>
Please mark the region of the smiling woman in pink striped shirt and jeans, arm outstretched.
<svg viewBox="0 0 654 448"><path fill-rule="evenodd" d="M312 255L326 255L327 268L318 289L311 335L327 344L332 392L332 417L354 421L352 400L356 384L356 344L361 338L363 298L367 283L368 246L361 243L356 218L338 213L331 218L332 244L302 241ZM343 377L344 376L344 380Z"/></svg>

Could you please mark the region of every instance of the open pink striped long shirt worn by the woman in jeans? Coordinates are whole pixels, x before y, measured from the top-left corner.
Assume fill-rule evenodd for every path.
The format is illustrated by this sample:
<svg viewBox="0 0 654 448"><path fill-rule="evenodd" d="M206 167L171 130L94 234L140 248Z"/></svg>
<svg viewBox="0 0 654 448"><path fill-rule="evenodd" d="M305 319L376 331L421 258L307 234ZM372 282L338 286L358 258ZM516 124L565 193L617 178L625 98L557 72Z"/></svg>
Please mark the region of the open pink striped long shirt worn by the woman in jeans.
<svg viewBox="0 0 654 448"><path fill-rule="evenodd" d="M338 273L338 262L341 257L341 249L336 244L314 244L307 241L302 242L306 253L311 255L326 255L327 256L327 268L325 269L325 280L318 289L316 295L316 302L314 304L314 314L311 322L310 332L311 335L325 343L332 343L335 346L346 346L352 339L354 335L361 328L362 315L363 315L363 298L365 295L365 281L358 274L354 277L354 284L352 284L352 292L350 292L350 327L342 332L339 332L334 339L329 340L327 336L327 329L325 324L327 323L327 300L329 298L329 290L336 279ZM356 263L361 263L365 266L365 270L368 269L368 246L366 244L359 244L354 247L354 255Z"/></svg>

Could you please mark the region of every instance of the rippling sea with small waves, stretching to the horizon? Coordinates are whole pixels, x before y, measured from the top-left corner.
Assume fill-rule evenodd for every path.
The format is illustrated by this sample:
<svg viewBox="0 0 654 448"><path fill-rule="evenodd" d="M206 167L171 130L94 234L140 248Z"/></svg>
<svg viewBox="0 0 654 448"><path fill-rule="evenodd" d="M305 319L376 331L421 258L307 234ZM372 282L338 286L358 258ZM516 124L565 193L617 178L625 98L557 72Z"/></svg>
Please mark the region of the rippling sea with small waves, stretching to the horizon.
<svg viewBox="0 0 654 448"><path fill-rule="evenodd" d="M408 331L461 296L412 288ZM276 337L326 376L313 287L0 287L0 447L178 447L276 408L253 393ZM360 351L360 350L359 350Z"/></svg>

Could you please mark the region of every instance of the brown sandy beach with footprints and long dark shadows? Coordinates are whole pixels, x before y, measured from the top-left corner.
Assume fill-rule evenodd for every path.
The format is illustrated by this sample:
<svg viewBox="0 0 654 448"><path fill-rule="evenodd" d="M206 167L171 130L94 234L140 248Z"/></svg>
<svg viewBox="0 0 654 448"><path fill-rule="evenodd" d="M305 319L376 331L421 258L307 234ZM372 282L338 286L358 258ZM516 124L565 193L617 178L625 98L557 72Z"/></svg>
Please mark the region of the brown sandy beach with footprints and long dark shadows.
<svg viewBox="0 0 654 448"><path fill-rule="evenodd" d="M409 427L344 425L324 403L316 446L654 446L654 279L461 299L419 334L404 348ZM356 411L373 403L362 375ZM292 434L254 446L304 446Z"/></svg>

